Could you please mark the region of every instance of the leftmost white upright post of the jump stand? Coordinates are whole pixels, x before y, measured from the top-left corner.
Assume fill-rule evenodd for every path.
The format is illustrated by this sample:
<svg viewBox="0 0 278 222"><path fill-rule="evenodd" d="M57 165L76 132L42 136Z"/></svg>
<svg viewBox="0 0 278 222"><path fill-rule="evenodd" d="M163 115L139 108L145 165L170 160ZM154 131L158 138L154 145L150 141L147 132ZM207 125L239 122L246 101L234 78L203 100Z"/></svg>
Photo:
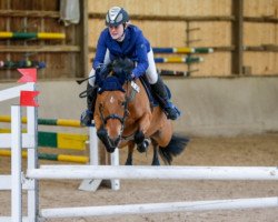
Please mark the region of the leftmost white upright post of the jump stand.
<svg viewBox="0 0 278 222"><path fill-rule="evenodd" d="M11 107L11 218L12 222L21 222L21 108L19 105Z"/></svg>

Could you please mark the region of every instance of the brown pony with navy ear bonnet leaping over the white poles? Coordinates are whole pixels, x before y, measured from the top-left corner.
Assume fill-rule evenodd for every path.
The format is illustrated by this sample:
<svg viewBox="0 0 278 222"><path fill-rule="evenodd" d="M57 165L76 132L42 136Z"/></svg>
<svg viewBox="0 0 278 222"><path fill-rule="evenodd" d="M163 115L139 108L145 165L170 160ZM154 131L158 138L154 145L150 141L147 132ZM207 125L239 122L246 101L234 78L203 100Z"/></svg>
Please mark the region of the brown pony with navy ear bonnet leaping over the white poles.
<svg viewBox="0 0 278 222"><path fill-rule="evenodd" d="M158 150L165 163L171 164L172 157L180 154L189 140L173 134L171 121L160 107L150 105L139 79L127 81L132 69L133 62L129 59L117 59L107 67L95 107L98 137L108 152L128 145L126 164L132 164L136 144L139 152L145 152L150 142L153 147L152 164L159 165Z"/></svg>

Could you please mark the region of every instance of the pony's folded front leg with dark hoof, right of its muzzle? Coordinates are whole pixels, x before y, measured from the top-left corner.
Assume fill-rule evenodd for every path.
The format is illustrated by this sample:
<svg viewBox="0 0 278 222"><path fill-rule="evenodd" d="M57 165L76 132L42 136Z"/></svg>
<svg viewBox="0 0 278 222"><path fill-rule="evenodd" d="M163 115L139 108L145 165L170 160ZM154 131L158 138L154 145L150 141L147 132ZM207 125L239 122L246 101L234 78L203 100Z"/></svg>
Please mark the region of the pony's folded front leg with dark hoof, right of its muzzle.
<svg viewBox="0 0 278 222"><path fill-rule="evenodd" d="M135 142L137 144L137 150L139 152L146 152L147 148L149 147L149 142L146 140L145 134L150 127L150 114L146 113L139 120L138 131L135 134Z"/></svg>

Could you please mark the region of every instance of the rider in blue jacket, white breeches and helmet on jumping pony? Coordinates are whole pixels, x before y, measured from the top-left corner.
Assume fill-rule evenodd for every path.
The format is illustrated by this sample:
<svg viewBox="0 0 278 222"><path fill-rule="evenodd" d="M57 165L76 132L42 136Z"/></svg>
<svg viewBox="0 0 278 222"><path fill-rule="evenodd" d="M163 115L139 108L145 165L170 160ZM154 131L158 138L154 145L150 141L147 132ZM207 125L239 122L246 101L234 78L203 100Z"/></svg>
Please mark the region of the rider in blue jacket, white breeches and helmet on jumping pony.
<svg viewBox="0 0 278 222"><path fill-rule="evenodd" d="M176 120L180 113L169 101L162 79L157 73L152 49L142 31L129 23L128 12L120 7L109 9L106 14L106 26L107 28L98 40L96 58L89 77L95 75L96 70L99 70L102 64L108 64L117 58L129 58L137 64L130 79L135 80L146 73L153 93L161 100L160 107L166 112L167 118ZM93 118L92 110L97 97L97 90L93 90L95 81L95 77L90 78L87 85L88 110L81 115L81 124L83 125L89 125Z"/></svg>

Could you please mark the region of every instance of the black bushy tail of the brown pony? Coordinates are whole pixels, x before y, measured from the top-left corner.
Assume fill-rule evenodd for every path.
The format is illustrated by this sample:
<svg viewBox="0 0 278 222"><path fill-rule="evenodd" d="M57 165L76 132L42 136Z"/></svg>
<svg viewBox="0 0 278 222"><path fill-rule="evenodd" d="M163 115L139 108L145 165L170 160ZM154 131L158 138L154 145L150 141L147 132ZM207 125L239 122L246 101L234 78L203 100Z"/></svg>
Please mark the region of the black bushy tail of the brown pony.
<svg viewBox="0 0 278 222"><path fill-rule="evenodd" d="M159 147L159 154L165 163L170 165L172 158L179 155L186 149L188 142L187 137L173 133L167 147Z"/></svg>

